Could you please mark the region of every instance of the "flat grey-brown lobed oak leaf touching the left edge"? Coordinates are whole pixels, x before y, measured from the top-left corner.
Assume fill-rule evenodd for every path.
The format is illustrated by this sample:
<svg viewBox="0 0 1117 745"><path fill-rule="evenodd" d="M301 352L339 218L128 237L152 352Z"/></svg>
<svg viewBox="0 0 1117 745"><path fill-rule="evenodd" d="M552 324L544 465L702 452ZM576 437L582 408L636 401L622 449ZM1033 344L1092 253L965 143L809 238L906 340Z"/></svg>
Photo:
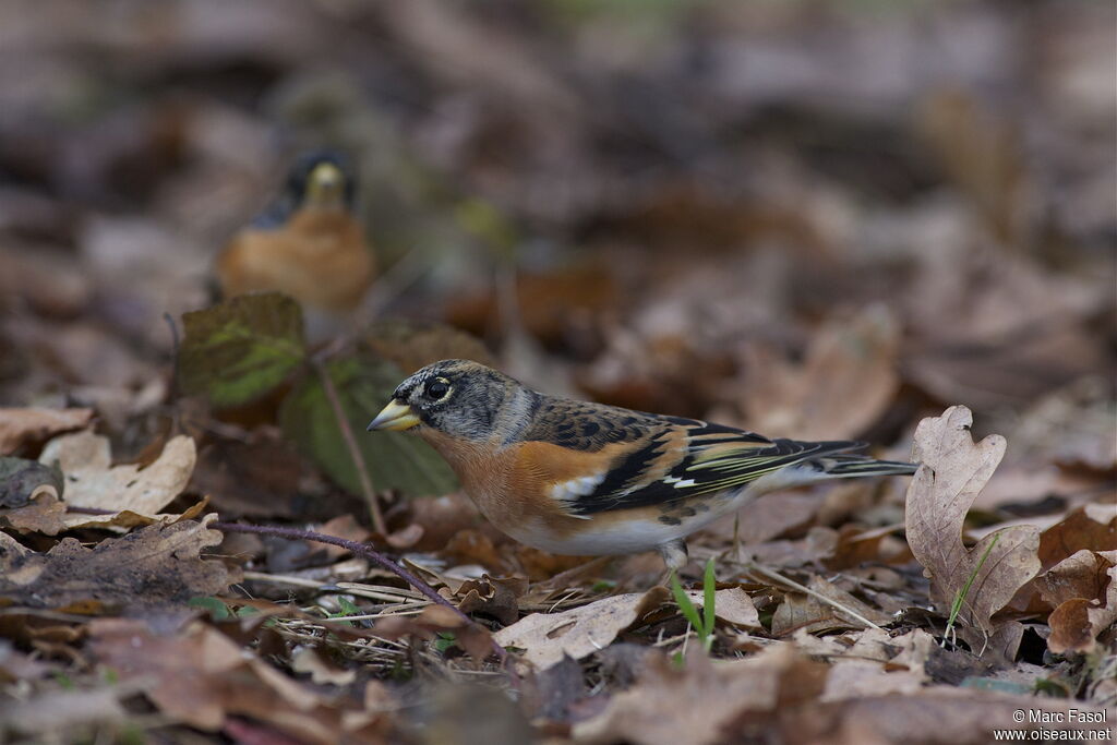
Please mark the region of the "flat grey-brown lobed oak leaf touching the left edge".
<svg viewBox="0 0 1117 745"><path fill-rule="evenodd" d="M152 525L86 548L65 538L46 554L0 534L0 598L29 608L97 612L185 603L236 581L225 564L199 552L221 543L201 523Z"/></svg>

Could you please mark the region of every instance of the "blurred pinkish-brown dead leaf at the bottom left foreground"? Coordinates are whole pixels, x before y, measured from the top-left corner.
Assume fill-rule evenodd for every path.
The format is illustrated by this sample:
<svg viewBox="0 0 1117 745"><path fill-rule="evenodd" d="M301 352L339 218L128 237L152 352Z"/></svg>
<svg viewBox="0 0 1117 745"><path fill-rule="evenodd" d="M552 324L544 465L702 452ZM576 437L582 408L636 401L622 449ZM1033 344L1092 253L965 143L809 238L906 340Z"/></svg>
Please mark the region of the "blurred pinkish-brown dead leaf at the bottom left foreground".
<svg viewBox="0 0 1117 745"><path fill-rule="evenodd" d="M307 743L380 742L345 732L344 711L212 627L195 622L176 636L156 636L143 623L106 619L90 624L89 636L98 661L122 680L147 681L144 695L192 727L217 732L227 716L244 715Z"/></svg>

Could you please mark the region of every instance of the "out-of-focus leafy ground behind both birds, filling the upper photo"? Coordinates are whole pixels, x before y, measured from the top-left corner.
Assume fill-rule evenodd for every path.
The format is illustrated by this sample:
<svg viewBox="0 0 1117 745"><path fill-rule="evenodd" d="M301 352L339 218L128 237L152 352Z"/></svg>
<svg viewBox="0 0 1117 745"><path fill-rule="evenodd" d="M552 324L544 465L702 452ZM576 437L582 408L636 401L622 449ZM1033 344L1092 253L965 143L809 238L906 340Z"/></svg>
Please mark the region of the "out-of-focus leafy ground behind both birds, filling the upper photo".
<svg viewBox="0 0 1117 745"><path fill-rule="evenodd" d="M900 456L964 403L1029 495L1111 475L1115 23L1070 0L9 0L0 402L157 412L163 314L211 302L221 247L326 146L360 175L378 313L540 388Z"/></svg>

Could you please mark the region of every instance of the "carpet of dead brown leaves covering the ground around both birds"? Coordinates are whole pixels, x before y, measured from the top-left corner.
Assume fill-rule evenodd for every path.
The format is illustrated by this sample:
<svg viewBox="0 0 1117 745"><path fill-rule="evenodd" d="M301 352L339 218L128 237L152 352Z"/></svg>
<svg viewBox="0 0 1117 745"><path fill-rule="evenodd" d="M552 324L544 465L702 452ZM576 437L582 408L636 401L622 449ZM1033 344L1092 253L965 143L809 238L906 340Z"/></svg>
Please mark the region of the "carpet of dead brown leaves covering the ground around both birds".
<svg viewBox="0 0 1117 745"><path fill-rule="evenodd" d="M92 6L4 23L36 85L0 80L0 739L1117 720L1111 9L936 9L944 68L905 9L359 4L180 13L157 50ZM209 289L296 142L353 157L384 267L325 345ZM521 546L363 436L458 356L923 466L712 525L672 601L657 557Z"/></svg>

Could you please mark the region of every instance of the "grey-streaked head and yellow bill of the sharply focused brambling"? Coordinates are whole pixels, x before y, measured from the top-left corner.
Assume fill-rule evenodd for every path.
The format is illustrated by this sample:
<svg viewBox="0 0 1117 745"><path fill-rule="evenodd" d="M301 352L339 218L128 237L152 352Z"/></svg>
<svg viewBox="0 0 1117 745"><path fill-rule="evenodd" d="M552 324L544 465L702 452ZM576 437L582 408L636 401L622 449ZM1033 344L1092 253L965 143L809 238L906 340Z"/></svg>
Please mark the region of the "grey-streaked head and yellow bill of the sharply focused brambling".
<svg viewBox="0 0 1117 745"><path fill-rule="evenodd" d="M469 360L442 360L413 373L369 424L374 430L435 430L451 438L491 437L504 402L521 385Z"/></svg>

